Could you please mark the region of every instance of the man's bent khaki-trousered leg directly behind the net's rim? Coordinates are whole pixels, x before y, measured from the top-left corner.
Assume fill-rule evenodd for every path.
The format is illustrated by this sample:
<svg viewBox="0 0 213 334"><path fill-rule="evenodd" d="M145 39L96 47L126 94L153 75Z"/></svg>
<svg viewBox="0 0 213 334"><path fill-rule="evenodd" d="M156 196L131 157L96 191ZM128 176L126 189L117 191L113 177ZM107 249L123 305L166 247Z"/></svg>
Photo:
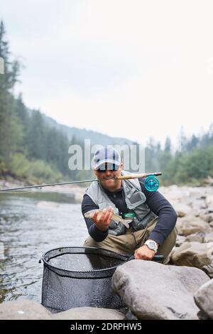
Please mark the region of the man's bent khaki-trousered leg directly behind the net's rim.
<svg viewBox="0 0 213 334"><path fill-rule="evenodd" d="M125 235L108 235L102 242L96 242L92 237L88 237L84 242L84 247L100 247L120 254L133 255L136 244L131 231L128 230Z"/></svg>

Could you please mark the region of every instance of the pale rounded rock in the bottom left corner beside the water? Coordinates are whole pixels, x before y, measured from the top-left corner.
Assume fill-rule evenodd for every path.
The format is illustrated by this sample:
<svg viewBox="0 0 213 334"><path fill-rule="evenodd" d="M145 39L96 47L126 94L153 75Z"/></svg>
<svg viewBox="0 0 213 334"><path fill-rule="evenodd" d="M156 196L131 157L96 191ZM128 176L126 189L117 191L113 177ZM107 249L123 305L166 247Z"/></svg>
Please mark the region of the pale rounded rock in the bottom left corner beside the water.
<svg viewBox="0 0 213 334"><path fill-rule="evenodd" d="M50 320L51 313L35 301L18 299L0 304L1 320Z"/></svg>

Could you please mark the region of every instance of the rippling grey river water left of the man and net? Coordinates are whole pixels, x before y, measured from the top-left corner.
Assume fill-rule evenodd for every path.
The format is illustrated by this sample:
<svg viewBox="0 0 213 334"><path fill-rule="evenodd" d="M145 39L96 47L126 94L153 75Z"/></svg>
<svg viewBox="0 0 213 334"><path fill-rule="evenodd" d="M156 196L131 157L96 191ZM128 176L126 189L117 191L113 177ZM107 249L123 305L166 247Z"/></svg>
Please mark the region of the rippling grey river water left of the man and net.
<svg viewBox="0 0 213 334"><path fill-rule="evenodd" d="M44 252L82 246L87 227L81 205L58 193L0 194L0 302L24 296L40 303Z"/></svg>

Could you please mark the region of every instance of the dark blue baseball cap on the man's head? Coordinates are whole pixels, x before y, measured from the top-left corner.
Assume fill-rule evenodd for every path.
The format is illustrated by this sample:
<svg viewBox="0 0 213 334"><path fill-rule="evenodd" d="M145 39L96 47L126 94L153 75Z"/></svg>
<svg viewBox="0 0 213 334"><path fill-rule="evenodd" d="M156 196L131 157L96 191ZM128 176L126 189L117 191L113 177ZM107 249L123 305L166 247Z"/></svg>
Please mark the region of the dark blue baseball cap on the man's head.
<svg viewBox="0 0 213 334"><path fill-rule="evenodd" d="M92 169L104 169L105 163L109 163L111 165L116 165L117 167L121 163L121 156L116 149L113 147L105 146L102 149L98 149L94 153L94 158L92 159ZM111 169L111 168L109 168Z"/></svg>

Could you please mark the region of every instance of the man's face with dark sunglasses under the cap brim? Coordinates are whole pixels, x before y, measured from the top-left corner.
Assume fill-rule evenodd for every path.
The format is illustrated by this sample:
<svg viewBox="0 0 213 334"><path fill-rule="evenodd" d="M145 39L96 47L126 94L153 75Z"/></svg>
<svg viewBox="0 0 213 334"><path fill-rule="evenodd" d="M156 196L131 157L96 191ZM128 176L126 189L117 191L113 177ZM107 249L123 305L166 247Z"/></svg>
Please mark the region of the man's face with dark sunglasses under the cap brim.
<svg viewBox="0 0 213 334"><path fill-rule="evenodd" d="M95 175L97 176L97 178L99 180L102 180L104 178L104 181L101 181L101 184L104 188L106 188L107 190L111 190L114 191L117 188L121 187L121 180L109 180L110 178L114 178L115 176L120 176L121 175L121 171L123 169L123 163L121 163L119 165L116 171L114 171L112 168L113 166L111 165L111 163L105 163L105 166L101 166L101 168L99 168L97 171L94 171Z"/></svg>

